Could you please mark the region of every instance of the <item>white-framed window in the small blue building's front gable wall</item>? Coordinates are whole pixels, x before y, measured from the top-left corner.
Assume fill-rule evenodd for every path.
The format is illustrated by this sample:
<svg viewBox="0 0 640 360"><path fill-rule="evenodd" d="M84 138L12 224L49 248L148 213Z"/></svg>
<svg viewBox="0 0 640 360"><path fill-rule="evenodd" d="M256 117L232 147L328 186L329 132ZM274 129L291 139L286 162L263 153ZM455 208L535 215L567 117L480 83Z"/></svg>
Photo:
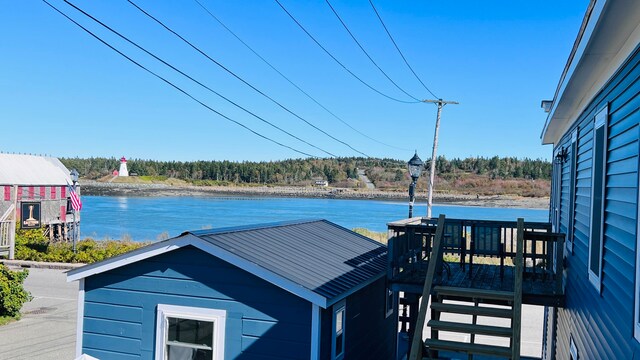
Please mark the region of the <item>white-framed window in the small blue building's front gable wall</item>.
<svg viewBox="0 0 640 360"><path fill-rule="evenodd" d="M224 310L158 305L156 359L224 358Z"/></svg>

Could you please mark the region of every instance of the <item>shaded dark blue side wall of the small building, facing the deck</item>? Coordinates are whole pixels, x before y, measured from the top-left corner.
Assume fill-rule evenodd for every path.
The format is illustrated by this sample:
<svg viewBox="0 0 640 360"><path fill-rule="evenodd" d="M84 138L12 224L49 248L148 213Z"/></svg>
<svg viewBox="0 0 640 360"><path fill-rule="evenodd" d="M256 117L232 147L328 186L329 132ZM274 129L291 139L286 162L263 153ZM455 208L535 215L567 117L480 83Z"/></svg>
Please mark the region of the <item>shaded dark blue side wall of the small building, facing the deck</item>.
<svg viewBox="0 0 640 360"><path fill-rule="evenodd" d="M385 278L377 280L347 298L345 359L388 360L393 359L398 335L398 314L386 317ZM331 358L333 307L321 312L322 334L320 358ZM329 330L329 331L327 331Z"/></svg>

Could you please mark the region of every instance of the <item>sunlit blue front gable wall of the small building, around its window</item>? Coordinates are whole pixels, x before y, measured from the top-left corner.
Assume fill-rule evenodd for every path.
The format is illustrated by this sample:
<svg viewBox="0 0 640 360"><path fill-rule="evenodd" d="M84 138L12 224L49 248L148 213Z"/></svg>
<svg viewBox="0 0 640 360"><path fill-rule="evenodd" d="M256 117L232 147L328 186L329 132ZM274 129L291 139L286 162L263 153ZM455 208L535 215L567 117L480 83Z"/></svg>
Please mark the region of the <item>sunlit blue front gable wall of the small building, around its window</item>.
<svg viewBox="0 0 640 360"><path fill-rule="evenodd" d="M227 359L306 359L311 304L193 247L85 279L83 352L153 359L158 304L227 311Z"/></svg>

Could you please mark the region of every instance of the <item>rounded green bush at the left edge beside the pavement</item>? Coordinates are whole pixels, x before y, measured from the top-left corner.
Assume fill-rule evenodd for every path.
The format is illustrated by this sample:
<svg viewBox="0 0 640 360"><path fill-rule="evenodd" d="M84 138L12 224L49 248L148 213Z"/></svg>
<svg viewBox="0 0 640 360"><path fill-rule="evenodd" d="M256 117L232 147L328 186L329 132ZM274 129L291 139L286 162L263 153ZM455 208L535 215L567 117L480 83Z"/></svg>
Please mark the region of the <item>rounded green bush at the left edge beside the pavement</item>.
<svg viewBox="0 0 640 360"><path fill-rule="evenodd" d="M28 275L28 270L11 271L0 264L0 317L18 317L22 305L31 301L23 286Z"/></svg>

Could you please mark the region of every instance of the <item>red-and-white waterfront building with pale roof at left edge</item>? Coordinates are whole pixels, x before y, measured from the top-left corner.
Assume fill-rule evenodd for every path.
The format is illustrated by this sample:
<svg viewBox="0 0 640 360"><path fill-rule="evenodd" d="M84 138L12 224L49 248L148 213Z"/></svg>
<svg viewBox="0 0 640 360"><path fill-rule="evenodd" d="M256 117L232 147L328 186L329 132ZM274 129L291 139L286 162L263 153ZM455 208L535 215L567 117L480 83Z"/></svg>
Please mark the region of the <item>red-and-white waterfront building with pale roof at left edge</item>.
<svg viewBox="0 0 640 360"><path fill-rule="evenodd" d="M7 255L16 225L43 228L51 235L56 226L64 236L72 222L67 216L70 184L69 170L55 157L0 153L0 255Z"/></svg>

